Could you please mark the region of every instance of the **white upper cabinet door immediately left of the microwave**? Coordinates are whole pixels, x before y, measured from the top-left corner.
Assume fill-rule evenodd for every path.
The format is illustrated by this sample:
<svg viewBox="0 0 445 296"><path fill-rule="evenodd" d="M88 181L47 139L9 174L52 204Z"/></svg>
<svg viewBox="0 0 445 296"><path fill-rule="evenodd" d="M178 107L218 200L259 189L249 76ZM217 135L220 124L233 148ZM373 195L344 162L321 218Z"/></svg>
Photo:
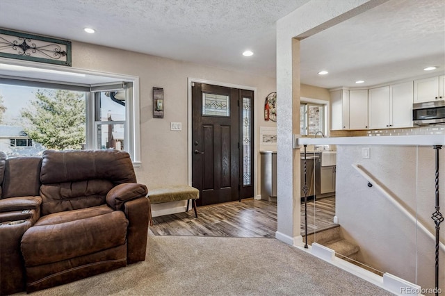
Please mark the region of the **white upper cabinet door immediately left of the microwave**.
<svg viewBox="0 0 445 296"><path fill-rule="evenodd" d="M412 127L413 82L389 85L389 126Z"/></svg>

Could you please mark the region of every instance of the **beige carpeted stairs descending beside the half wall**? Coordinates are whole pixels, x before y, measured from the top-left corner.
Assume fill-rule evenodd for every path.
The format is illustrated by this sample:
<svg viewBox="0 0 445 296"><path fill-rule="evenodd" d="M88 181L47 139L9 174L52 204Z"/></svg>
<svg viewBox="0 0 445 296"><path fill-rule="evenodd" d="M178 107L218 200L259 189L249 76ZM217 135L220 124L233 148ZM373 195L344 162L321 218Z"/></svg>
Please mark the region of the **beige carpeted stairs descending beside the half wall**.
<svg viewBox="0 0 445 296"><path fill-rule="evenodd" d="M305 236L303 235L303 242ZM368 266L359 263L360 247L344 238L341 238L340 225L334 224L331 227L316 231L316 233L307 233L307 245L312 245L312 242L317 242L320 245L333 249L335 256L353 263L361 268L369 270L375 274L382 276L382 272L369 268Z"/></svg>

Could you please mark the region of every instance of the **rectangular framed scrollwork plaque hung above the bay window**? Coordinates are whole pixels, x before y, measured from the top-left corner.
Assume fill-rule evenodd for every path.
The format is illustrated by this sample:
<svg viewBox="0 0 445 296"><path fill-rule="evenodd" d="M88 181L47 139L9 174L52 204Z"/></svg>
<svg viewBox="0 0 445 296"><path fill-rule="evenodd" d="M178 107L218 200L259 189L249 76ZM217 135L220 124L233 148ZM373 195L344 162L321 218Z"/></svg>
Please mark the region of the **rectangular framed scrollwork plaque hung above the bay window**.
<svg viewBox="0 0 445 296"><path fill-rule="evenodd" d="M71 42L0 29L0 56L71 66Z"/></svg>

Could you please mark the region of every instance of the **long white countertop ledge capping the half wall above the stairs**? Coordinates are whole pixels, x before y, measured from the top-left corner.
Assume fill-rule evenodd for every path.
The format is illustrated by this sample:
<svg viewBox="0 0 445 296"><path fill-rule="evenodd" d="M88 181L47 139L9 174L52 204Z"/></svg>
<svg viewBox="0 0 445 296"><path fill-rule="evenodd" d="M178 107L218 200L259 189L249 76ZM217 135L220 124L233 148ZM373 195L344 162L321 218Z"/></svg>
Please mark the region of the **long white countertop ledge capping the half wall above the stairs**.
<svg viewBox="0 0 445 296"><path fill-rule="evenodd" d="M394 145L431 146L445 145L445 135L382 135L368 137L335 138L294 138L294 148L298 145Z"/></svg>

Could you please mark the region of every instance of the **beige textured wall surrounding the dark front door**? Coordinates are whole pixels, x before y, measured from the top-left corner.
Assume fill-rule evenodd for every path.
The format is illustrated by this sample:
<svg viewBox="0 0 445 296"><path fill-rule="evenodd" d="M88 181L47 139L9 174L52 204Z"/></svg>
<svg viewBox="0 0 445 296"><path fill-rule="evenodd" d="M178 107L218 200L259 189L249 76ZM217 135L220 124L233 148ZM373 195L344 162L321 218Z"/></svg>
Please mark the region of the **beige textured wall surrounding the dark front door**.
<svg viewBox="0 0 445 296"><path fill-rule="evenodd" d="M257 88L254 116L259 122L264 116L266 95L275 91L275 78L272 77L227 71L81 42L72 42L72 67L140 77L142 165L136 169L136 176L140 183L149 187L188 183L188 77ZM152 116L154 87L164 90L163 119ZM170 131L170 122L181 122L182 131ZM261 124L263 123L264 120ZM255 145L258 146L258 128L255 129L254 136ZM257 188L259 194L259 176Z"/></svg>

